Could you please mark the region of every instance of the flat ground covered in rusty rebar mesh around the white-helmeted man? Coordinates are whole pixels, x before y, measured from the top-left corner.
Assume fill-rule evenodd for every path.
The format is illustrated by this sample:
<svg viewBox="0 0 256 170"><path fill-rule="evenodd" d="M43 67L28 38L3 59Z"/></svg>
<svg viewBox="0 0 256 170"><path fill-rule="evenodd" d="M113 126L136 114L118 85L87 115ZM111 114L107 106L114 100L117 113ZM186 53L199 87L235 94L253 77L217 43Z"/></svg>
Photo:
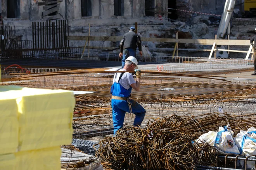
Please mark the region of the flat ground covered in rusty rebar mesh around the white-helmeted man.
<svg viewBox="0 0 256 170"><path fill-rule="evenodd" d="M225 126L227 122L232 124L233 119L237 124L232 124L232 129L235 129L236 133L241 129L255 126L256 77L251 75L254 70L252 61L193 57L173 57L173 59L176 59L177 63L139 63L139 68L142 71L181 74L180 76L142 74L140 91L133 90L131 93L131 98L142 104L147 111L142 128L145 128L152 118L164 118L171 115L177 115L184 119L188 116L191 119L193 117L194 120L198 118L198 126L202 128L199 129L205 133L209 130L214 131L214 129L218 131L218 127ZM26 62L20 60L16 63L35 74L12 75L12 73L20 73L21 69L12 66L4 70L5 65L10 65L10 61L3 61L1 68L5 75L2 75L1 85L47 89L61 88L77 92L73 115L73 142L72 145L62 146L62 148L84 151L92 155L95 154L92 145L112 136L113 122L109 92L113 75L112 73L104 73L103 75L90 73L90 71L102 72L118 68L120 62L97 61L95 63L88 60L42 61L33 59ZM37 63L34 68L25 67L32 65L32 63ZM49 68L52 65L55 65L55 68ZM75 70L74 67L83 67L84 69ZM62 75L22 78L42 75L40 73L46 71L60 71L59 74ZM80 73L69 74L71 71L79 71ZM81 71L89 73L85 74ZM182 76L183 74L208 76L209 78L186 77ZM230 82L215 80L212 78L216 77L211 76L225 76L226 78L220 79ZM22 79L17 80L16 78ZM166 90L166 88L174 89ZM85 94L85 92L92 93ZM228 119L230 120L223 120L225 115L229 116ZM204 122L203 117L211 117L211 120ZM131 117L130 114L126 114L125 123L132 126L133 118L134 116ZM191 131L199 131L196 127L194 128ZM231 158L226 158L227 162L226 165L223 164L223 167L234 168L234 160L232 162ZM104 169L111 169L111 162L104 159L101 161ZM92 159L90 162L94 162L94 160ZM64 162L61 165L64 169L72 169L85 167L90 162L86 163L77 158L75 161ZM221 155L219 155L218 163L219 166L223 163ZM150 169L154 169L154 167Z"/></svg>

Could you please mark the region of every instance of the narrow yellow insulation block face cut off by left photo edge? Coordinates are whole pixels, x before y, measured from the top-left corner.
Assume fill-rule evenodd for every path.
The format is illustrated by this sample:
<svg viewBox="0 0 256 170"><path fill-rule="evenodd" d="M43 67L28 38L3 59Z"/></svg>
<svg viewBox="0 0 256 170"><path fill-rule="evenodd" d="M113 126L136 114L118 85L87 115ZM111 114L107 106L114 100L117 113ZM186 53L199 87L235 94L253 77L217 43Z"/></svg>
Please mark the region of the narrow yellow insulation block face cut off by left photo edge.
<svg viewBox="0 0 256 170"><path fill-rule="evenodd" d="M16 100L0 99L0 155L17 151L19 131L17 116Z"/></svg>

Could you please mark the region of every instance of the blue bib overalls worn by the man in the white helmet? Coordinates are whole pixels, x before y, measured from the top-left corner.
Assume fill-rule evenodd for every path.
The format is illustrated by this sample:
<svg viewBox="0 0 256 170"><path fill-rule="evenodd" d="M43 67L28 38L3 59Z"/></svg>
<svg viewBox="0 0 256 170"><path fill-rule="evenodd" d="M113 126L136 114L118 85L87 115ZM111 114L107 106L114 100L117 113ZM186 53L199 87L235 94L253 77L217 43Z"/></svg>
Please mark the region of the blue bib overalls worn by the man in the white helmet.
<svg viewBox="0 0 256 170"><path fill-rule="evenodd" d="M123 86L121 86L119 83L122 76L123 76L123 73L121 73L118 83L114 82L114 84L111 86L111 94L112 96L118 96L118 97L130 97L131 87L127 90L123 88ZM136 126L136 125L140 126L145 117L146 110L140 104L138 104L138 102L135 102L132 99L130 99L130 102L131 102L132 113L135 114L133 126ZM113 117L114 135L115 135L117 130L123 128L125 113L130 112L130 109L127 101L125 100L112 99L111 106L112 106L112 117Z"/></svg>

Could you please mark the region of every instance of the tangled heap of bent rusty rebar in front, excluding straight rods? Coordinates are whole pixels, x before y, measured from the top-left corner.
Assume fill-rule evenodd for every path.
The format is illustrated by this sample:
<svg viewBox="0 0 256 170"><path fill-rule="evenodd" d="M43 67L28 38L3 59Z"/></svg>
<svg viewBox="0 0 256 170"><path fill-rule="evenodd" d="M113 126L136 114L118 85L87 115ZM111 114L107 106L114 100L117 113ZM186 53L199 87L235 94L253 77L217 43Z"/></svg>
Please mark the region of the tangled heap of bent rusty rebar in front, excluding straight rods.
<svg viewBox="0 0 256 170"><path fill-rule="evenodd" d="M100 141L96 156L113 169L182 170L215 165L216 150L207 143L192 143L193 138L181 117L150 119L144 129L125 126L116 137Z"/></svg>

